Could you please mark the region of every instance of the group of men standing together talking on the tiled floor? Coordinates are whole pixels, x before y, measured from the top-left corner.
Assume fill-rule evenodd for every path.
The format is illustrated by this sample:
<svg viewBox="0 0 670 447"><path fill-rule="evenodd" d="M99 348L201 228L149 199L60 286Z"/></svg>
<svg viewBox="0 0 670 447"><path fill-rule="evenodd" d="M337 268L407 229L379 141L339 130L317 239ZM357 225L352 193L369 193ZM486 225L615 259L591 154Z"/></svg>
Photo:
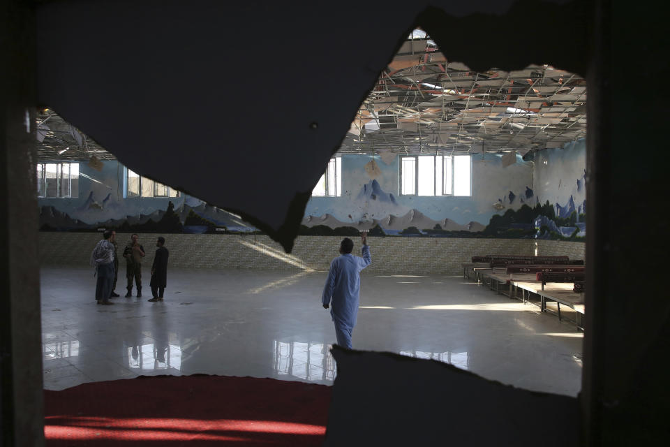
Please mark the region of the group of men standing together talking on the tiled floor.
<svg viewBox="0 0 670 447"><path fill-rule="evenodd" d="M96 301L99 305L113 305L110 298L118 297L114 290L119 276L119 259L117 256L117 233L107 230L103 233L103 240L96 244L91 252L91 265L96 267L98 281L96 283ZM151 265L151 294L149 301L163 301L165 287L168 285L168 255L165 248L165 237L159 236L156 240L156 256ZM137 298L142 297L142 258L146 256L144 247L140 244L140 236L133 234L124 249L126 258L126 278L128 279L128 293L126 298L133 296L133 279L137 288Z"/></svg>

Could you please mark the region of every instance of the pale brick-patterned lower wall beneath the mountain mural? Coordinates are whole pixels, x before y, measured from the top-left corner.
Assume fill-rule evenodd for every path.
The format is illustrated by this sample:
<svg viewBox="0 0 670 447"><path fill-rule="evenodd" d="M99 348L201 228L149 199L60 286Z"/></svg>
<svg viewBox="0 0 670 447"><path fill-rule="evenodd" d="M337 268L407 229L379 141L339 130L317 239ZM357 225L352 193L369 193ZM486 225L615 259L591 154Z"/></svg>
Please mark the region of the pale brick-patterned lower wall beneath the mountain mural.
<svg viewBox="0 0 670 447"><path fill-rule="evenodd" d="M147 251L147 267L154 258L158 235L141 234ZM91 250L102 236L98 233L40 233L42 265L86 266ZM338 256L341 237L301 236L292 254L267 236L254 235L165 235L170 250L170 268L240 268L260 270L327 270ZM130 239L117 234L119 256ZM360 242L354 239L355 254ZM544 242L544 241L541 241ZM550 241L551 242L551 241ZM373 263L366 274L461 274L461 263L477 254L525 254L533 252L533 240L461 239L448 237L370 237ZM565 242L570 244L569 242ZM544 246L542 248L544 250ZM121 259L121 263L124 260Z"/></svg>

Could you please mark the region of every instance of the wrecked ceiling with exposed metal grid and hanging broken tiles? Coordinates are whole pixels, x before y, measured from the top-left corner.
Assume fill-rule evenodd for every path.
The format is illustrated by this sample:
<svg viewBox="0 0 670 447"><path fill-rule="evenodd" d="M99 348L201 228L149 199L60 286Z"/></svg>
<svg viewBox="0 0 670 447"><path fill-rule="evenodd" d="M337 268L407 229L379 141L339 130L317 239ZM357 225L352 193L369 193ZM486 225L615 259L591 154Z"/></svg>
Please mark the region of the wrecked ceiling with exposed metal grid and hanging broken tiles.
<svg viewBox="0 0 670 447"><path fill-rule="evenodd" d="M38 110L40 160L114 159L50 109ZM586 137L586 80L549 64L475 72L417 29L389 62L340 153L509 152Z"/></svg>

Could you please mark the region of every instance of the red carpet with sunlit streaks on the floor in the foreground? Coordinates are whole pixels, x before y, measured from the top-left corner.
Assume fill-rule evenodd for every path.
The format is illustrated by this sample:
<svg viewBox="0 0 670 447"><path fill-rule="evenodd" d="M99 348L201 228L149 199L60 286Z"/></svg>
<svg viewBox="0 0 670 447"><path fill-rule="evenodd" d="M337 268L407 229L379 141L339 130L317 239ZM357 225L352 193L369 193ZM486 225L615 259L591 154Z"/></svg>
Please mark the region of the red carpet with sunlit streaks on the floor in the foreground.
<svg viewBox="0 0 670 447"><path fill-rule="evenodd" d="M320 446L331 388L252 377L157 376L45 390L46 445Z"/></svg>

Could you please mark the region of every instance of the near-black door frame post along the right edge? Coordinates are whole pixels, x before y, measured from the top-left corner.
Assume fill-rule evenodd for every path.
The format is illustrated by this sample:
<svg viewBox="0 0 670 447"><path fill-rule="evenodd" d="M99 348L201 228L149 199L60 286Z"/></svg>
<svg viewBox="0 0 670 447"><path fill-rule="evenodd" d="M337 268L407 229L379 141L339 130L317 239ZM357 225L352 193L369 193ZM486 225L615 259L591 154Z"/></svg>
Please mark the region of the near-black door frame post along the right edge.
<svg viewBox="0 0 670 447"><path fill-rule="evenodd" d="M594 4L582 444L658 446L670 437L668 93L659 84L669 38L664 17L645 5ZM623 85L657 90L629 100Z"/></svg>

